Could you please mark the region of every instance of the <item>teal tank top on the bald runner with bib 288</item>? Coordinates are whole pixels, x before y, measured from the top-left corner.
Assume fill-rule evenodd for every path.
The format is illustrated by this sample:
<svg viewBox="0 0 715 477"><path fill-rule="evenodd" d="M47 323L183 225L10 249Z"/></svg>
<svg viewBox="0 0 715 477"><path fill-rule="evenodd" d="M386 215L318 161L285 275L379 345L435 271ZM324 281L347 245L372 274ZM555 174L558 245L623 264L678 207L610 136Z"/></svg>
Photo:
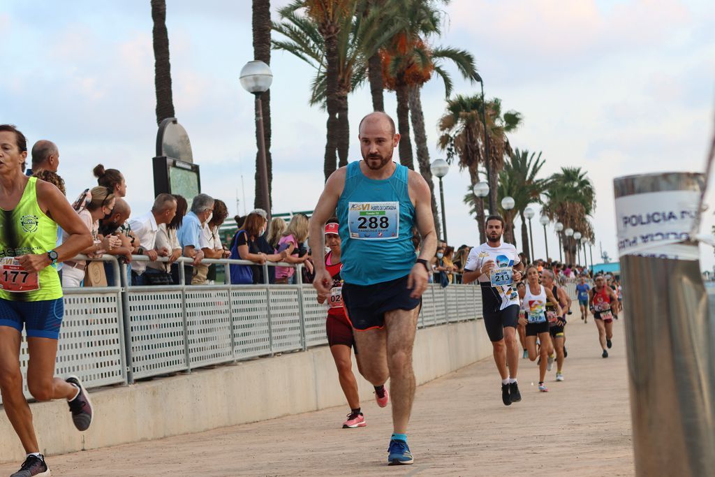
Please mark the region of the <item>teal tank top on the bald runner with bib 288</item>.
<svg viewBox="0 0 715 477"><path fill-rule="evenodd" d="M342 271L352 285L375 285L410 274L415 265L415 207L408 193L409 169L396 164L389 179L365 177L360 162L347 164L337 201Z"/></svg>

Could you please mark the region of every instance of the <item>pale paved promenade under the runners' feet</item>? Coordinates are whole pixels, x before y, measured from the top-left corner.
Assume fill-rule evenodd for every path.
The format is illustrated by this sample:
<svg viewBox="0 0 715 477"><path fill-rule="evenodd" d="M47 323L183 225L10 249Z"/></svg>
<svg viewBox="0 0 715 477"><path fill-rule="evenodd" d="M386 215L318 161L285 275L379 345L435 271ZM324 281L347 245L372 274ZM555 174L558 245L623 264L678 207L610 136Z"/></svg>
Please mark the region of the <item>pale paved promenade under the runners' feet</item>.
<svg viewBox="0 0 715 477"><path fill-rule="evenodd" d="M363 403L365 428L340 428L345 406L52 456L52 475L632 476L623 318L613 327L608 359L601 358L593 320L569 318L566 380L554 381L555 364L548 393L536 390L538 369L529 360L520 360L518 373L523 400L509 407L501 403L491 359L418 388L409 433L413 466L386 466L390 409L370 401ZM97 411L99 419L122 419ZM0 466L0 475L16 470Z"/></svg>

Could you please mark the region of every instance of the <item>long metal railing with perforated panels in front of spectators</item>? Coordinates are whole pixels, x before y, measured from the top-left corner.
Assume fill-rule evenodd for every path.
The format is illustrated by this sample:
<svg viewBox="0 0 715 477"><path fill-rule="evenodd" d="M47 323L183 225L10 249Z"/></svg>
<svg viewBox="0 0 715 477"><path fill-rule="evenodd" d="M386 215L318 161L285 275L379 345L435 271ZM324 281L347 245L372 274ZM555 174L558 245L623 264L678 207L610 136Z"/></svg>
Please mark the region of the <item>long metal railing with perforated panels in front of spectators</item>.
<svg viewBox="0 0 715 477"><path fill-rule="evenodd" d="M317 303L312 285L302 283L302 264L267 262L262 285L232 285L228 265L248 260L206 259L226 267L225 283L132 286L127 265L115 257L112 287L64 288L65 315L60 330L56 375L79 375L87 388L132 384L137 379L185 372L306 350L327 344L327 308ZM149 261L144 255L133 261ZM167 262L166 257L159 259ZM192 260L181 257L179 263ZM295 285L269 285L268 267L294 267ZM576 283L566 286L576 297ZM418 327L482 318L481 292L474 285L430 285L423 295ZM23 338L24 378L29 355ZM24 379L26 383L26 379ZM31 397L24 389L27 397Z"/></svg>

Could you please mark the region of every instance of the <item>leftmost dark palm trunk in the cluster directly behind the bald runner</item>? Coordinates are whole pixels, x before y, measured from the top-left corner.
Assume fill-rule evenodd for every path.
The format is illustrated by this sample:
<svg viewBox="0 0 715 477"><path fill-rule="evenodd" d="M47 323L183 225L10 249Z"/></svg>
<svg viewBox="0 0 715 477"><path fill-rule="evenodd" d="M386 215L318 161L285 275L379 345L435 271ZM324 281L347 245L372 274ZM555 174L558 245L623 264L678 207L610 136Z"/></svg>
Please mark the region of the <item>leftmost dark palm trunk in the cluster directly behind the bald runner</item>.
<svg viewBox="0 0 715 477"><path fill-rule="evenodd" d="M323 172L325 180L330 177L330 174L335 172L337 166L337 144L339 141L339 122L337 120L337 112L340 109L337 99L338 92L338 58L337 58L337 34L329 32L324 35L325 38L325 69L326 82L326 102L327 102L327 131L325 141L325 163L323 164Z"/></svg>

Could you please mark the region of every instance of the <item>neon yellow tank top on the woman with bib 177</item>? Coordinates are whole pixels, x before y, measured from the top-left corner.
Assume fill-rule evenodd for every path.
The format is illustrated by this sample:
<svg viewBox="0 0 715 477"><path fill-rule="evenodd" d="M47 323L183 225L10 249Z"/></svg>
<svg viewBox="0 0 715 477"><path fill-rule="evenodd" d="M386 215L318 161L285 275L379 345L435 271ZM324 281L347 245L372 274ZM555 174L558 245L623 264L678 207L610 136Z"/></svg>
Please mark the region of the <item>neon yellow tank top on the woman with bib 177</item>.
<svg viewBox="0 0 715 477"><path fill-rule="evenodd" d="M37 178L30 177L20 202L14 210L0 209L0 257L41 254L57 245L57 224L37 204ZM39 290L8 292L0 289L0 298L34 302L62 297L62 286L54 265L39 272Z"/></svg>

